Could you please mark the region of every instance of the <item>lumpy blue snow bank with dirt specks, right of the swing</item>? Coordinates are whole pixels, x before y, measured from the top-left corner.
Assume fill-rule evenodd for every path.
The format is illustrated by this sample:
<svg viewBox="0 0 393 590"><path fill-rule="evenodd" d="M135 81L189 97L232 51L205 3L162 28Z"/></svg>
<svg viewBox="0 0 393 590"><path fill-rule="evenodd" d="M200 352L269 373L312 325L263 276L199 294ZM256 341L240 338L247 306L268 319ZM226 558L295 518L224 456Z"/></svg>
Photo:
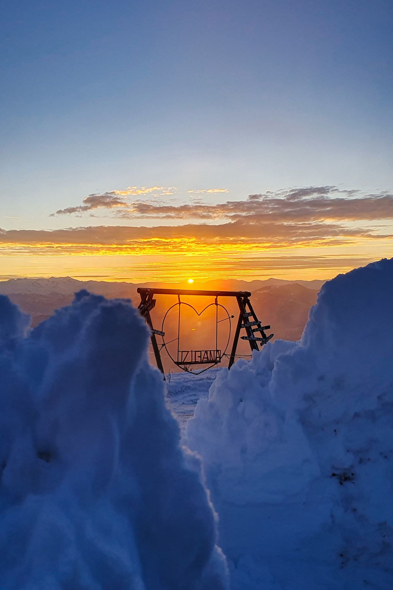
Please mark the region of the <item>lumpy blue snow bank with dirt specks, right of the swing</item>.
<svg viewBox="0 0 393 590"><path fill-rule="evenodd" d="M233 588L393 587L393 260L326 283L299 342L221 371L187 422Z"/></svg>

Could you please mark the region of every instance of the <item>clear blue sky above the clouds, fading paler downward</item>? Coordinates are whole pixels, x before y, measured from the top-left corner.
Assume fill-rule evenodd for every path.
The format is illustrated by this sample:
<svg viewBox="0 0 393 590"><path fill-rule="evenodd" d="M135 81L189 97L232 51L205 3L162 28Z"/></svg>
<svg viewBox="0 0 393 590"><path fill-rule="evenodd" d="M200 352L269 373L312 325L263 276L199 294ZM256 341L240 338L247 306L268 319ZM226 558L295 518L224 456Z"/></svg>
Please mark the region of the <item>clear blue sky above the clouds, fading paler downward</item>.
<svg viewBox="0 0 393 590"><path fill-rule="evenodd" d="M393 189L390 0L6 1L0 28L5 230L119 224L49 215L128 186Z"/></svg>

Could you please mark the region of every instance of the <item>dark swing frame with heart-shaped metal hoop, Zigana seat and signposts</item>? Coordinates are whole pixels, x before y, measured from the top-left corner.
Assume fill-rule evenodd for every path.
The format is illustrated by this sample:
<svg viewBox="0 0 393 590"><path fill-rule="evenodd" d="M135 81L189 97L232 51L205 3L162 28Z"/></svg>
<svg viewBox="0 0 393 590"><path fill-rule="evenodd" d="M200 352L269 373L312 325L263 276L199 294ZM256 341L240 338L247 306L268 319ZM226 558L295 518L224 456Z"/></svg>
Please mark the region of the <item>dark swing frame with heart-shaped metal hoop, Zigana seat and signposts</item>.
<svg viewBox="0 0 393 590"><path fill-rule="evenodd" d="M266 342L273 337L273 334L269 336L266 335L265 330L270 330L270 326L262 326L262 322L258 320L256 317L255 311L250 303L251 293L249 291L200 291L194 289L156 289L155 287L138 287L138 293L141 297L141 302L138 306L138 310L146 319L148 326L150 326L151 330L151 345L153 346L154 356L156 357L156 363L158 369L164 374L163 363L161 360L160 351L165 348L169 358L173 360L175 365L177 365L183 371L193 373L197 375L202 373L203 371L207 371L207 369L212 368L214 365L218 365L223 357L229 358L228 368L230 369L233 363L235 362L235 358L239 355L236 355L237 343L239 342L240 330L246 330L246 336L240 336L243 340L247 340L250 343L250 349L259 350L262 348ZM169 309L167 310L166 314L163 317L163 322L161 324L161 330L157 330L153 327L153 322L151 321L150 312L153 307L156 305L156 299L154 296L156 295L177 295L177 303L174 303ZM195 307L193 307L190 303L186 303L185 301L181 301L180 297L186 295L191 296L204 296L204 297L214 297L214 303L209 303L202 312L197 312ZM230 335L231 335L231 319L235 316L230 316L229 312L227 311L226 307L218 302L219 297L236 297L237 305L239 307L239 317L237 319L235 335L233 336L232 342L232 350L230 355L227 354L227 348L230 342ZM180 312L181 306L188 306L196 312L198 316L200 316L208 307L216 306L216 348L215 349L208 349L208 350L180 350ZM179 307L179 318L177 322L177 337L170 342L165 342L164 336L164 322L167 317L167 314L170 312L171 309L175 307ZM219 307L224 310L227 317L224 319L219 320ZM252 319L251 319L252 318ZM220 322L224 322L225 320L229 320L229 336L226 343L226 347L224 350L218 348L218 324ZM260 336L256 336L255 333L259 332ZM161 336L163 342L160 343L161 346L158 346L156 336ZM167 345L171 342L175 342L177 340L177 356L174 358L171 355ZM259 346L258 346L259 345ZM243 355L240 355L243 356ZM195 373L192 370L194 365L208 365L206 368L202 369ZM165 378L165 377L164 377Z"/></svg>

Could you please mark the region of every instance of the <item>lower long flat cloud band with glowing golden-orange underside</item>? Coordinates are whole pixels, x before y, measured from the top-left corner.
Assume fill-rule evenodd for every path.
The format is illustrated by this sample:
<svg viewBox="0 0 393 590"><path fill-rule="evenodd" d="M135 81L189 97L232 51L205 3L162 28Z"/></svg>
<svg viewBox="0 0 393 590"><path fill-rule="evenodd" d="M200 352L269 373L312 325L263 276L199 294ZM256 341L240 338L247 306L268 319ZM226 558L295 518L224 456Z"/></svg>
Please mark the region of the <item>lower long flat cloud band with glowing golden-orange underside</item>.
<svg viewBox="0 0 393 590"><path fill-rule="evenodd" d="M356 238L387 238L361 227L328 222L259 222L237 219L226 224L158 227L99 226L64 230L0 230L2 253L176 253L193 250L338 245Z"/></svg>

